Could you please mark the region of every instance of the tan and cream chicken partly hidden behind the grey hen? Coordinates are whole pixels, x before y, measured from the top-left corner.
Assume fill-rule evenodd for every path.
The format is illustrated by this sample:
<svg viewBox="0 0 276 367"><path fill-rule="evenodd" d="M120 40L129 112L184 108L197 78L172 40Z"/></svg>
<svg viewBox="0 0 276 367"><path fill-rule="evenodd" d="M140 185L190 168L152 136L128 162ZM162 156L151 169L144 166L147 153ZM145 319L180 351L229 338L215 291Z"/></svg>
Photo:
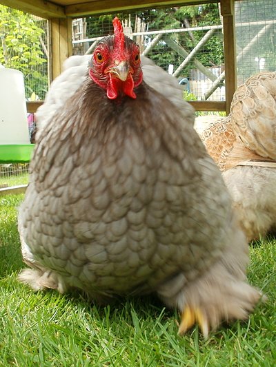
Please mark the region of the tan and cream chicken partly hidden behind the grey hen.
<svg viewBox="0 0 276 367"><path fill-rule="evenodd" d="M276 229L276 72L248 78L201 138L223 171L248 242Z"/></svg>

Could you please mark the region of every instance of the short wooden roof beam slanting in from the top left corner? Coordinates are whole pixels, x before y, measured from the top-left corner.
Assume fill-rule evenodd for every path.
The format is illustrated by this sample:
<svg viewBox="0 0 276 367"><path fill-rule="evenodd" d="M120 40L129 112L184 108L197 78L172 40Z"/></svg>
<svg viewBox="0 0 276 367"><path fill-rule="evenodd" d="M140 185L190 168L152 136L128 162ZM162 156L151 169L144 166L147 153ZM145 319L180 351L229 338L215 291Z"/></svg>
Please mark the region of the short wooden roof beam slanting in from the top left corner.
<svg viewBox="0 0 276 367"><path fill-rule="evenodd" d="M37 17L49 19L52 17L66 18L65 8L53 2L44 0L0 0L2 5L10 8L37 15Z"/></svg>

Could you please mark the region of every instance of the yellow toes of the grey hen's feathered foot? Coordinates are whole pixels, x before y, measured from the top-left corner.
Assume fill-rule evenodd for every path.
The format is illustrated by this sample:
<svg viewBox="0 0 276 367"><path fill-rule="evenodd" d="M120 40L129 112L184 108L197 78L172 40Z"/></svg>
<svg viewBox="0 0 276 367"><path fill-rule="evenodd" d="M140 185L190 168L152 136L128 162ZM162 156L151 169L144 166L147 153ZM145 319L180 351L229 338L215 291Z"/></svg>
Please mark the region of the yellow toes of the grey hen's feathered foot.
<svg viewBox="0 0 276 367"><path fill-rule="evenodd" d="M186 306L181 315L181 323L178 330L179 335L186 333L196 322L199 324L199 328L204 337L208 337L209 326L204 313L200 308L193 309L190 306Z"/></svg>

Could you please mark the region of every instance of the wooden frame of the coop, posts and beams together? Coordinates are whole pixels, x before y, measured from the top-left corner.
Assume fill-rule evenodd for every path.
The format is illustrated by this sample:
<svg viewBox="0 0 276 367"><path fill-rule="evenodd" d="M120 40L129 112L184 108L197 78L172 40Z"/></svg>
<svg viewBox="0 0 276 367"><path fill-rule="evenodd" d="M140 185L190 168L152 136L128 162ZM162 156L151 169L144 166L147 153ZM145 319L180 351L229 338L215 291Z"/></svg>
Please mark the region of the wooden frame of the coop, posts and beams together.
<svg viewBox="0 0 276 367"><path fill-rule="evenodd" d="M189 101L189 103L196 111L226 111L228 114L233 94L237 89L235 0L0 0L5 6L48 19L51 79L61 73L63 61L72 55L72 18L121 10L215 2L220 2L223 19L226 101ZM28 112L35 112L41 103L27 102Z"/></svg>

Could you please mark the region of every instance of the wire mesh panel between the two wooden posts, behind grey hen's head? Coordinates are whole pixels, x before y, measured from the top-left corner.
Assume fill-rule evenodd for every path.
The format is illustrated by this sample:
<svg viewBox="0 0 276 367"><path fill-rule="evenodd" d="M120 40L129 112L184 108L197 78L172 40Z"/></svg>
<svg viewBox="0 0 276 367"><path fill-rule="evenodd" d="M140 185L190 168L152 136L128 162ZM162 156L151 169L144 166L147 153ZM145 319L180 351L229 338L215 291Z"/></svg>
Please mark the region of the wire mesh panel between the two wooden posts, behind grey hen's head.
<svg viewBox="0 0 276 367"><path fill-rule="evenodd" d="M224 71L219 3L75 19L74 54L92 53L102 36L112 34L116 15L125 34L139 44L141 53L176 76L189 99L225 100L224 84L219 81Z"/></svg>

